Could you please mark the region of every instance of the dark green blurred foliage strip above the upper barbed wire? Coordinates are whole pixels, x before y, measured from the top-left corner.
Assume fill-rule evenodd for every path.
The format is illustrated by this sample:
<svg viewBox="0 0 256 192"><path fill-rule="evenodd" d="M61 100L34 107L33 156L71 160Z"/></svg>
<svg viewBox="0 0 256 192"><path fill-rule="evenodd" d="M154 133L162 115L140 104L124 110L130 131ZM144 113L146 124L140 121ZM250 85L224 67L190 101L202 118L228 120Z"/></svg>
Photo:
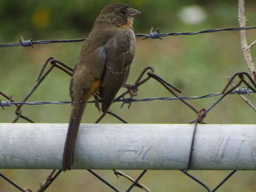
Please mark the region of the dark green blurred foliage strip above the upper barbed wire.
<svg viewBox="0 0 256 192"><path fill-rule="evenodd" d="M103 6L116 1L0 1L1 42L16 35L27 38L63 37L65 34L87 33ZM126 0L124 3L143 12L137 19L138 30L151 26L172 29L182 26L177 18L181 7L197 4L207 9L207 23L222 27L236 25L234 1L174 1L174 0ZM250 2L252 4L252 2ZM221 7L221 9L219 9ZM205 23L204 23L205 24ZM60 34L60 35L57 35Z"/></svg>

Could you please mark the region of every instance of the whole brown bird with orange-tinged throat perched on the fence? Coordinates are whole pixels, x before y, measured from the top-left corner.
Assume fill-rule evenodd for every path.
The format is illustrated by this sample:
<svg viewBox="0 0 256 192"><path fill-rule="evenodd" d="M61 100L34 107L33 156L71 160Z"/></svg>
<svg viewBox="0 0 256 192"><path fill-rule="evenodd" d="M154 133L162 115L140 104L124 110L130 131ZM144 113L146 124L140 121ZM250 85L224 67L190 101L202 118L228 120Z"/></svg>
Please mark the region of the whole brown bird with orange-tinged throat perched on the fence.
<svg viewBox="0 0 256 192"><path fill-rule="evenodd" d="M138 14L141 12L120 3L105 6L82 46L70 82L73 108L63 152L63 171L73 165L78 127L91 95L99 93L101 110L106 113L126 82L135 52L133 17Z"/></svg>

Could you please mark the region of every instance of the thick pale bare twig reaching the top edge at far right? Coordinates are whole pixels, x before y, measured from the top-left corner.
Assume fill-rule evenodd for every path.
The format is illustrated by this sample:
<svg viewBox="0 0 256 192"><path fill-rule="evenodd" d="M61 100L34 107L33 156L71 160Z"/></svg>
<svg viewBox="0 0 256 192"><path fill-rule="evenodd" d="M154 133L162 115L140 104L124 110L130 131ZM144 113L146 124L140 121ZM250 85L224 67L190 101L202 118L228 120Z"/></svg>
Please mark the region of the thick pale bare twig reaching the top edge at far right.
<svg viewBox="0 0 256 192"><path fill-rule="evenodd" d="M247 19L245 17L244 0L238 0L239 27L245 27L246 21L247 21ZM253 44L248 46L247 38L246 38L246 30L240 31L240 41L241 41L241 47L242 47L244 59L247 63L247 66L249 67L249 70L251 71L254 81L256 81L256 69L254 66L254 62L252 60L252 55L251 55L251 50L250 50L250 48L253 46Z"/></svg>

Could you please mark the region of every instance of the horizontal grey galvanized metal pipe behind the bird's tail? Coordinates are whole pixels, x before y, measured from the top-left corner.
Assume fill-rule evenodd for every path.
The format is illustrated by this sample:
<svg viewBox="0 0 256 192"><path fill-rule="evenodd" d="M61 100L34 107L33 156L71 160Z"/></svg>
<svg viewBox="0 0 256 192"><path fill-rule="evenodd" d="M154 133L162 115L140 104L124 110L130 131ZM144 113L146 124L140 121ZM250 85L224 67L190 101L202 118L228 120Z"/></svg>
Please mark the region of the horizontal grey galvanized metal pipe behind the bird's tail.
<svg viewBox="0 0 256 192"><path fill-rule="evenodd" d="M61 169L67 124L0 124L0 169ZM74 169L187 169L193 124L81 124ZM198 125L193 170L256 170L256 125Z"/></svg>

